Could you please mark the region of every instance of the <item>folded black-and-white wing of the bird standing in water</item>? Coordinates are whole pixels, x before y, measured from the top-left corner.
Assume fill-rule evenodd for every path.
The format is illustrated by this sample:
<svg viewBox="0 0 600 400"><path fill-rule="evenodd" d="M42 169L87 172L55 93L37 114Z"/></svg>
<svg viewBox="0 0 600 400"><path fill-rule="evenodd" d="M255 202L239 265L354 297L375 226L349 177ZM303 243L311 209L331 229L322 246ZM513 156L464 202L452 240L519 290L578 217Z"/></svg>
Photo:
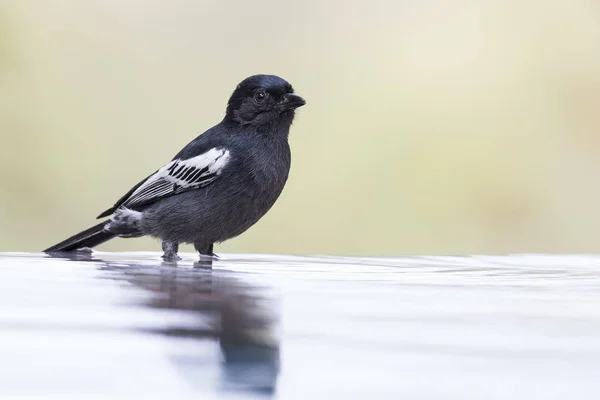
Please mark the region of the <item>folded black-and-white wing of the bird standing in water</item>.
<svg viewBox="0 0 600 400"><path fill-rule="evenodd" d="M195 157L175 158L134 186L98 218L112 214L121 206L135 208L167 196L204 187L217 179L229 159L229 151L217 147Z"/></svg>

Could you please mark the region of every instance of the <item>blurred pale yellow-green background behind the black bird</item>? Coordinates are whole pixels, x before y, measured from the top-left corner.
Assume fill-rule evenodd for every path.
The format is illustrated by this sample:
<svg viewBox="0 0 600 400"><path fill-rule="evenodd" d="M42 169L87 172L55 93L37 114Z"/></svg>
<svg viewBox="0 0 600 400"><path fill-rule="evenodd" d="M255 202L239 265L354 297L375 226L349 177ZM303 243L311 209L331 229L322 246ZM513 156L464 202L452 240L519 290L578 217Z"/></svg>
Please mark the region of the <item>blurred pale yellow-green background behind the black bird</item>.
<svg viewBox="0 0 600 400"><path fill-rule="evenodd" d="M4 0L0 250L94 224L255 73L308 103L283 195L217 252L600 251L585 0Z"/></svg>

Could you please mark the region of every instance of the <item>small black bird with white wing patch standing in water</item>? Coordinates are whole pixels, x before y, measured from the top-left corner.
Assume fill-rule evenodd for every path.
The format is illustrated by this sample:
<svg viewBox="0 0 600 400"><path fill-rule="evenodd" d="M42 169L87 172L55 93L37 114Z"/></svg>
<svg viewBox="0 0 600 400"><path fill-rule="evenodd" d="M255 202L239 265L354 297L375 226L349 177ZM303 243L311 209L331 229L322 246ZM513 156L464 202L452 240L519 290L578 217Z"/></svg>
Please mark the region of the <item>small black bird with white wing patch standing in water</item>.
<svg viewBox="0 0 600 400"><path fill-rule="evenodd" d="M291 167L290 127L305 104L277 75L247 77L229 97L223 120L97 217L108 220L44 253L150 236L162 241L166 261L181 260L181 243L192 244L200 259L212 259L215 243L244 233L279 198Z"/></svg>

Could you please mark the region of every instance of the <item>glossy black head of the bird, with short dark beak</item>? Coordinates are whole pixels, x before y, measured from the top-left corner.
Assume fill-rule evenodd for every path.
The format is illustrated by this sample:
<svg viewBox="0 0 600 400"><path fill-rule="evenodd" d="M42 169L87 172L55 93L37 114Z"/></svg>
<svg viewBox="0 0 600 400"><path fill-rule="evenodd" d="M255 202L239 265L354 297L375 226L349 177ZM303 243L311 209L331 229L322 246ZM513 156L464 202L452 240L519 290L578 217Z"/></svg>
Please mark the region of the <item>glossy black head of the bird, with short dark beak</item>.
<svg viewBox="0 0 600 400"><path fill-rule="evenodd" d="M253 75L244 79L229 98L225 120L257 128L289 127L294 110L304 104L286 80L275 75Z"/></svg>

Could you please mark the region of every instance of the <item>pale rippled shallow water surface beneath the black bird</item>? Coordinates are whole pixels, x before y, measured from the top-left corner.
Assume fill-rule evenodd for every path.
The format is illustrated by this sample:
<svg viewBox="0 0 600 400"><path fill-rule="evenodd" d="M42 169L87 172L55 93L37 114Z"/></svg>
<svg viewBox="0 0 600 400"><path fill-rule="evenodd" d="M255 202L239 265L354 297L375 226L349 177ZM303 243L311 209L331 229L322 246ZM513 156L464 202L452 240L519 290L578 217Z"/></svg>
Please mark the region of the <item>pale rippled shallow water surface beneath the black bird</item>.
<svg viewBox="0 0 600 400"><path fill-rule="evenodd" d="M0 398L600 396L600 257L183 256L0 254Z"/></svg>

